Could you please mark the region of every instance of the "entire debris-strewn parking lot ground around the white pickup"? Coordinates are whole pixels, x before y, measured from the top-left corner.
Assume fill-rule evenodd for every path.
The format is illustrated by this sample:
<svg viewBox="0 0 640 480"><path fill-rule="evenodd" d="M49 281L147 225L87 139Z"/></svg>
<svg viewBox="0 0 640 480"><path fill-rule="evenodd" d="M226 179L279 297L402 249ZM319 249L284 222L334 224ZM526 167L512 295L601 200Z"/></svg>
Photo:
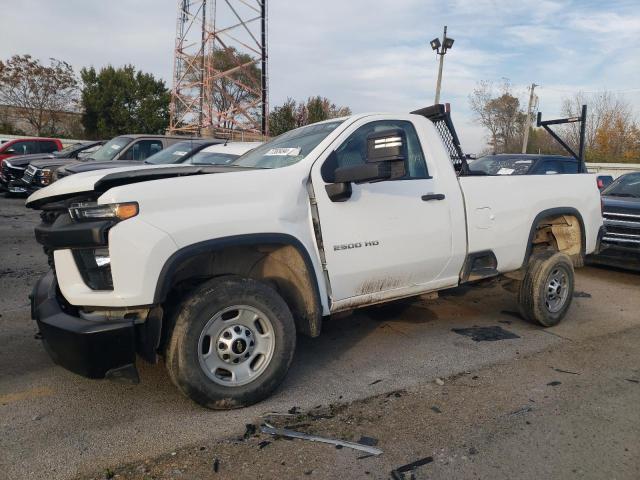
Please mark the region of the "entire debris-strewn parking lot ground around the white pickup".
<svg viewBox="0 0 640 480"><path fill-rule="evenodd" d="M27 295L47 265L33 239L38 214L23 203L0 198L4 478L99 478L105 469L145 459L149 465L157 463L154 475L159 478L202 478L198 469L205 464L208 474L215 474L212 445L226 459L219 473L227 473L220 478L255 478L259 475L247 466L253 463L263 465L266 477L315 473L324 478L350 472L356 478L366 471L388 478L390 467L420 453L433 455L435 462L418 478L603 478L612 468L617 478L640 476L639 274L594 267L578 271L577 295L567 318L546 330L522 320L514 298L496 285L460 288L431 302L333 319L320 338L300 339L292 370L275 396L250 408L213 412L183 398L162 364L140 362L141 384L129 385L80 378L51 362L34 338L29 315ZM452 331L474 326L500 327L517 338L474 341ZM476 385L484 384L476 393L465 388L473 376L478 377ZM444 385L434 384L436 378L444 379ZM560 383L551 385L556 381ZM398 408L380 410L387 394L399 390L406 393L393 397ZM362 401L370 397L383 400ZM429 420L435 401L442 415ZM350 409L361 416L370 410L368 417L377 420L367 424L369 433L376 430L385 454L358 460L355 454L302 441L296 441L295 453L287 451L289 442L274 442L264 450L253 439L216 444L242 436L245 425L259 423L265 412L286 413L293 407L306 412L330 404L343 406L343 416L336 418L347 423L344 415ZM504 416L522 405L528 414L526 406L533 404L531 415L538 417L526 420L526 431L523 415ZM498 424L496 418L508 421ZM332 425L320 430L328 436L355 435L357 430ZM491 435L478 436L485 427ZM460 436L454 438L453 432ZM465 436L476 438L479 453L455 450L463 448ZM172 453L182 458L194 448L201 456L183 462L192 462L191 474L183 467L176 473L175 462L163 460ZM233 451L242 452L244 460L233 460ZM523 460L527 451L530 463ZM254 458L259 453L263 458ZM562 470L554 470L559 454ZM287 455L297 458L281 460ZM161 458L152 460L157 456ZM225 470L230 465L233 475ZM123 470L121 475L135 472ZM144 472L138 471L140 478Z"/></svg>

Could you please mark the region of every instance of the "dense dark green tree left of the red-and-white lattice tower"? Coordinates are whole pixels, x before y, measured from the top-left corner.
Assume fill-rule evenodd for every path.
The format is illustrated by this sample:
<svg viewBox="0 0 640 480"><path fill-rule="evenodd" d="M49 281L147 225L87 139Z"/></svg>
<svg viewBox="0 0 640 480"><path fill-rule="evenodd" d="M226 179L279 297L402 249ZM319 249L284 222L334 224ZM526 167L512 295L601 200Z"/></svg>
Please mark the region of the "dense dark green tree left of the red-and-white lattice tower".
<svg viewBox="0 0 640 480"><path fill-rule="evenodd" d="M133 65L83 68L82 124L89 138L124 133L164 133L169 124L170 93L163 80Z"/></svg>

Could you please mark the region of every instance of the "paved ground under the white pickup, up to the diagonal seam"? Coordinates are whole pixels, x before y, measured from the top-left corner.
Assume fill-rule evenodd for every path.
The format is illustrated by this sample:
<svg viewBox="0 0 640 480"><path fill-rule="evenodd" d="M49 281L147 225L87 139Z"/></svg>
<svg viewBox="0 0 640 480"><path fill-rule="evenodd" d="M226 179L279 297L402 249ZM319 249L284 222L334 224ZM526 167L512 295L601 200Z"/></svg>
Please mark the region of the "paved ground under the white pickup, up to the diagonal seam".
<svg viewBox="0 0 640 480"><path fill-rule="evenodd" d="M326 322L319 338L299 339L291 371L272 398L241 410L207 411L177 392L161 363L140 361L139 385L88 380L53 364L29 318L27 296L47 265L33 239L38 215L23 202L0 198L0 472L6 478L89 475L237 436L265 412L419 389L435 378L640 326L636 273L579 270L576 290L583 295L550 329L520 319L515 299L500 287L460 288L435 301ZM476 342L452 331L474 326L501 327L517 338ZM625 398L617 407L637 412L637 403Z"/></svg>

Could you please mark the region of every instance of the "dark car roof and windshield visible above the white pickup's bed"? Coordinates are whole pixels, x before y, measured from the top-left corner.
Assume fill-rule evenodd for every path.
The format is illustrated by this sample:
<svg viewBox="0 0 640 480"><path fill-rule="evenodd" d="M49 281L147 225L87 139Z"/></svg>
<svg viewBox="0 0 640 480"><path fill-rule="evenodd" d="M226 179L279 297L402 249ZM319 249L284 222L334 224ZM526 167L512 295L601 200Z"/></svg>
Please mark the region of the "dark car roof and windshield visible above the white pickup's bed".
<svg viewBox="0 0 640 480"><path fill-rule="evenodd" d="M552 175L587 173L585 167L573 157L562 155L532 155L501 153L486 155L469 164L469 169L480 175Z"/></svg>

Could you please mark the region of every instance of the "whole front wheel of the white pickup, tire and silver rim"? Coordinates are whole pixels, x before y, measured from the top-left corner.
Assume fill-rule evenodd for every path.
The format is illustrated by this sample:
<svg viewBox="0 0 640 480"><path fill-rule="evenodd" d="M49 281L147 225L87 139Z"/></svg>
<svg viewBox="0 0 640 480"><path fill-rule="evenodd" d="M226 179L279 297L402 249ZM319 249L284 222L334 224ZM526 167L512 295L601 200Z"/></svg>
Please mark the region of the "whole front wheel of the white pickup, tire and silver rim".
<svg viewBox="0 0 640 480"><path fill-rule="evenodd" d="M293 317L273 288L222 277L183 301L165 363L169 377L187 397L226 410L271 395L287 374L295 345Z"/></svg>

